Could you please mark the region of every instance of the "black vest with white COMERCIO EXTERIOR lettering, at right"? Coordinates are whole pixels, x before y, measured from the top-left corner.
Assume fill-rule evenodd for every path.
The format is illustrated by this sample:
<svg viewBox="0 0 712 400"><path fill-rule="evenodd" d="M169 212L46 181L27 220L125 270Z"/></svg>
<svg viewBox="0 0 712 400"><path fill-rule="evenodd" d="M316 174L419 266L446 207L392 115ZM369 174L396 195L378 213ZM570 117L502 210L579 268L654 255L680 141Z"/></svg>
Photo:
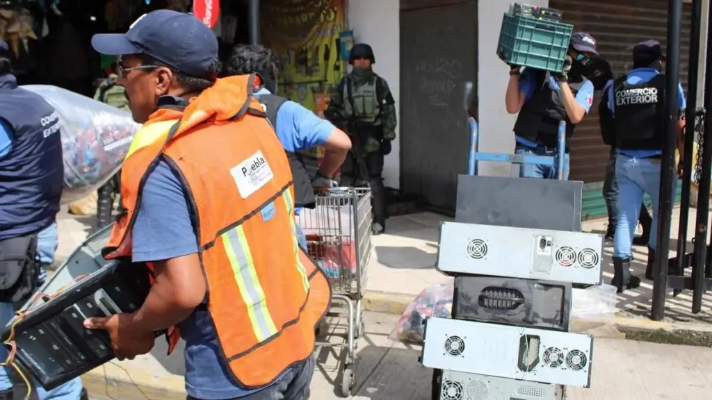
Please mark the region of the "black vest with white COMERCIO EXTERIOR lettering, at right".
<svg viewBox="0 0 712 400"><path fill-rule="evenodd" d="M613 83L613 118L618 149L659 150L665 132L665 75L632 85L628 77Z"/></svg>

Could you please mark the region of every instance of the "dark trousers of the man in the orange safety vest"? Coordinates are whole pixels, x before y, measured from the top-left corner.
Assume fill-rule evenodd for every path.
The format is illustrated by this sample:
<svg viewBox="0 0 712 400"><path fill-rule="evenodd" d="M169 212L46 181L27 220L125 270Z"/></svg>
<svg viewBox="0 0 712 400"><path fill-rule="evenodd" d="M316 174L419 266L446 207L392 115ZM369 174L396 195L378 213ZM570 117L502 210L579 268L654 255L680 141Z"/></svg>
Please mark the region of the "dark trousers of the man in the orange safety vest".
<svg viewBox="0 0 712 400"><path fill-rule="evenodd" d="M305 362L295 365L288 374L272 386L268 386L256 393L230 400L307 400L309 399L309 386L314 376L315 367L316 355L312 354ZM187 396L186 399L200 400L192 396Z"/></svg>

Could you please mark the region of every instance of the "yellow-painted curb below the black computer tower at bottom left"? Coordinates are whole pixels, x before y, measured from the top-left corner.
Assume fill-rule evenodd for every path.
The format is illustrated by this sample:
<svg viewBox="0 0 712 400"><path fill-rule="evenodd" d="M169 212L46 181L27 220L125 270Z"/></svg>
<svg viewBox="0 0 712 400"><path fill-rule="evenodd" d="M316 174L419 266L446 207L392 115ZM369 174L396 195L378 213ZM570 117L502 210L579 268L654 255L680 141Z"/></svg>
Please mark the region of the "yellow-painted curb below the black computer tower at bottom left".
<svg viewBox="0 0 712 400"><path fill-rule="evenodd" d="M174 374L155 374L144 369L108 362L82 375L92 400L185 400L185 380Z"/></svg>

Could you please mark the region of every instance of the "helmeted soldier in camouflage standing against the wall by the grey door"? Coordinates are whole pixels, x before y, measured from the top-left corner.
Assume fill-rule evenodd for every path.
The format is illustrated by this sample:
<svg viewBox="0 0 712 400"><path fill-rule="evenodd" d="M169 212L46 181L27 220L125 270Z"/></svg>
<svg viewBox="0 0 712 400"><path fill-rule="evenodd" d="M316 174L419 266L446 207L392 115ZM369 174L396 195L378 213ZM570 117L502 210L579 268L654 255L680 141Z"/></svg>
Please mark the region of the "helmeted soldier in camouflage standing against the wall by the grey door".
<svg viewBox="0 0 712 400"><path fill-rule="evenodd" d="M370 184L373 194L373 233L386 226L383 159L396 138L396 107L386 80L376 75L371 46L355 45L349 56L353 70L331 90L324 115L351 138L352 147L341 167L342 185Z"/></svg>

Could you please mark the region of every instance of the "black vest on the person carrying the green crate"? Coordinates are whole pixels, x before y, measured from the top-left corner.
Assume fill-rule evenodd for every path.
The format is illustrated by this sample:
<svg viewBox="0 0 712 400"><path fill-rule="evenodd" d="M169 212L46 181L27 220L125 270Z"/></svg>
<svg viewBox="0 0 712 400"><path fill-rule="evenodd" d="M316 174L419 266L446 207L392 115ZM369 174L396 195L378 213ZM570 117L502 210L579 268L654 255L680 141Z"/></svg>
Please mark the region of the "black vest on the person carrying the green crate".
<svg viewBox="0 0 712 400"><path fill-rule="evenodd" d="M565 121L568 147L568 140L573 135L575 125L569 120L559 91L552 87L550 76L546 71L537 71L534 94L524 102L519 111L514 133L547 147L556 147L559 122ZM578 93L585 82L586 78L583 77L577 82L569 82L573 95Z"/></svg>

